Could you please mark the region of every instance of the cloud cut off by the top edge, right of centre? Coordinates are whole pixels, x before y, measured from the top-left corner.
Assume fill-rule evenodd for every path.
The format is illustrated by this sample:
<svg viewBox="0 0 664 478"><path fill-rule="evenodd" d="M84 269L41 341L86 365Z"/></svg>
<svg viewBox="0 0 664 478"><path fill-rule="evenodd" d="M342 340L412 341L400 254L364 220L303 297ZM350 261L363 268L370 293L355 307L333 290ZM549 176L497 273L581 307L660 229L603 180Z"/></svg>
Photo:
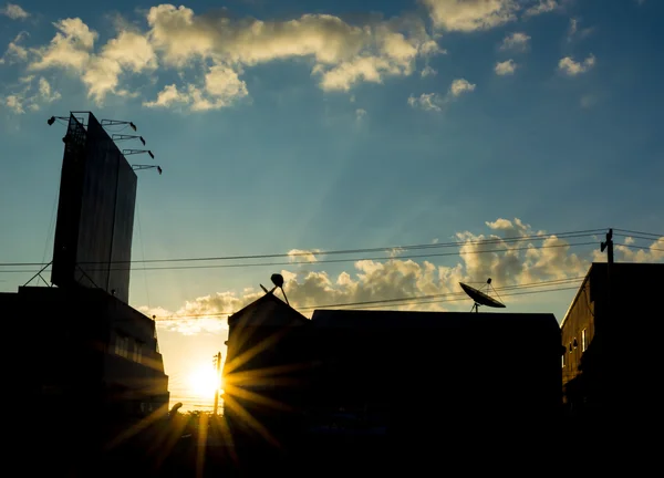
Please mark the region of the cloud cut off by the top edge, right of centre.
<svg viewBox="0 0 664 478"><path fill-rule="evenodd" d="M516 19L515 0L422 0L434 24L448 31L471 32Z"/></svg>

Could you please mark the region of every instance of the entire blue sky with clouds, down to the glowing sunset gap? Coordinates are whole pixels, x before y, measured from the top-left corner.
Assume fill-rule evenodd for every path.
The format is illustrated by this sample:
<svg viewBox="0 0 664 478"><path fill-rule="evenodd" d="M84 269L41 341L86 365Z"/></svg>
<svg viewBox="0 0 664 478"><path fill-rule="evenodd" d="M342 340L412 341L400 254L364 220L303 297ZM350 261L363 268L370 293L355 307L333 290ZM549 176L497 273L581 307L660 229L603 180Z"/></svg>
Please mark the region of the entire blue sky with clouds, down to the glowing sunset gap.
<svg viewBox="0 0 664 478"><path fill-rule="evenodd" d="M46 119L92 111L132 121L155 158L127 159L163 168L137 172L129 303L156 316L185 408L211 403L191 377L274 272L307 315L469 311L458 282L491 278L508 310L561 321L609 228L616 260L664 261L663 14L657 0L0 4L0 291L39 269L11 264L52 256L65 128ZM433 299L375 302L417 297Z"/></svg>

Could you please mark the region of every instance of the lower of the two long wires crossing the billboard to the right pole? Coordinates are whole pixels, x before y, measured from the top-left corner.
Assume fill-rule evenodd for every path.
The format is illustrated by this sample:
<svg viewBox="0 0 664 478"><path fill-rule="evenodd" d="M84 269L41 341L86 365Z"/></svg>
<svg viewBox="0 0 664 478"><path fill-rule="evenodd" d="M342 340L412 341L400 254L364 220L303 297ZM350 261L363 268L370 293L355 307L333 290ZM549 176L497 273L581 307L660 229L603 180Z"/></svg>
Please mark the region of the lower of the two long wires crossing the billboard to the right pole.
<svg viewBox="0 0 664 478"><path fill-rule="evenodd" d="M226 268L249 268L249 267L274 267L274 266L301 266L301 264L320 264L320 263L342 263L342 262L356 262L362 260L371 260L371 261L390 261L395 259L424 259L432 257L449 257L449 256L467 256L467 254L480 254L480 253L494 253L494 252L511 252L519 250L529 250L529 249L551 249L551 248L568 248L568 247L578 247L578 246L590 246L596 245L596 241L587 241L587 242L573 242L573 243L563 243L563 245L549 245L549 246L527 246L527 247L515 247L515 248L504 248L504 249L486 249L486 250L475 250L475 251L455 251L455 252L437 252L437 253L425 253L425 254L403 254L395 257L369 257L369 258L346 258L346 259L322 259L322 260L313 260L313 261L298 261L298 262L246 262L246 263L226 263L226 264L206 264L206 266L165 266L165 267L147 267L141 268L139 271L148 271L148 270L186 270L186 269L226 269ZM141 261L137 261L141 262ZM2 264L0 264L2 266ZM127 270L131 269L129 266L121 267L121 268L100 268L100 269L91 269L92 271L96 270ZM34 273L35 270L2 270L0 273L8 272L24 272L24 273Z"/></svg>

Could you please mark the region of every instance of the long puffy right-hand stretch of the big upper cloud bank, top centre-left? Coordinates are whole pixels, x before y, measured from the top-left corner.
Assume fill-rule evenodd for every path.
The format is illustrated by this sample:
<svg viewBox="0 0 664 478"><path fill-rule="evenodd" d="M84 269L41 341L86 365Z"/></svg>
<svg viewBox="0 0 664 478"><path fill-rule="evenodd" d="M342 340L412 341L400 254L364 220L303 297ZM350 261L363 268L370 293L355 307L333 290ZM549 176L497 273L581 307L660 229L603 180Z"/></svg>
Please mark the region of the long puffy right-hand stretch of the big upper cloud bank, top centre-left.
<svg viewBox="0 0 664 478"><path fill-rule="evenodd" d="M147 21L151 41L167 64L181 67L211 58L251 66L310 58L326 91L409 75L418 55L440 52L421 23L398 20L352 25L334 15L304 14L289 21L236 21L162 4L149 10Z"/></svg>

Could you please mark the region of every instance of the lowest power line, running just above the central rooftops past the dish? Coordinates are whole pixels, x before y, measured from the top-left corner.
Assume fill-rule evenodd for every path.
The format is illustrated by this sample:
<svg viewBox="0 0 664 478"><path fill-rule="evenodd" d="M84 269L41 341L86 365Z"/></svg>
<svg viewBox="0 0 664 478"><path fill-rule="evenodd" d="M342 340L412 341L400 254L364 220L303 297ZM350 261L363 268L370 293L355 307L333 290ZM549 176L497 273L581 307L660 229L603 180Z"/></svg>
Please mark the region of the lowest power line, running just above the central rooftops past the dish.
<svg viewBox="0 0 664 478"><path fill-rule="evenodd" d="M572 287L572 288L560 288L560 289L550 289L550 290L544 290L544 291L528 291L528 292L513 292L513 290L520 290L520 289L533 289L533 288L540 288L540 287L546 287L546 285L566 285L567 283L572 283L572 282L578 282L583 280L583 277L573 277L573 278L567 278L567 279L553 279L553 280L548 280L548 281L539 281L539 282L529 282L529 283L525 283L525 284L515 284L515 285L505 285L501 288L497 288L496 290L499 291L507 291L505 293L505 295L517 295L517 294L522 294L522 293L538 293L538 292L554 292L558 290L570 290L570 289L578 289L577 287ZM512 292L510 292L512 291ZM448 299L448 300L443 300L446 298L457 298L457 299ZM416 303L421 303L419 301L422 300L432 300L432 299L437 299L432 301L430 303L435 303L435 302L449 302L449 301L454 301L454 300L465 300L467 299L467 295L465 292L447 292L447 293L440 293L440 294L428 294L428 295L418 295L418 297L405 297L405 298L395 298L395 299L382 299L382 300L373 300L373 301L361 301L361 302L346 302L346 303L332 303L332 304L319 304L319 305L307 305L307 306L301 306L298 308L298 310L314 310L314 309L332 309L332 308L340 308L340 306L357 306L357 305L377 305L377 304L382 304L381 306L388 306L388 305L408 305L408 304L416 304ZM403 302L403 303L398 303L398 302ZM429 302L422 302L422 303L429 303ZM206 313L206 314L187 314L187 315L160 315L157 316L158 320L177 320L177 319L198 319L198 318L215 318L215 316L225 316L225 315L232 315L235 312L214 312L214 313Z"/></svg>

